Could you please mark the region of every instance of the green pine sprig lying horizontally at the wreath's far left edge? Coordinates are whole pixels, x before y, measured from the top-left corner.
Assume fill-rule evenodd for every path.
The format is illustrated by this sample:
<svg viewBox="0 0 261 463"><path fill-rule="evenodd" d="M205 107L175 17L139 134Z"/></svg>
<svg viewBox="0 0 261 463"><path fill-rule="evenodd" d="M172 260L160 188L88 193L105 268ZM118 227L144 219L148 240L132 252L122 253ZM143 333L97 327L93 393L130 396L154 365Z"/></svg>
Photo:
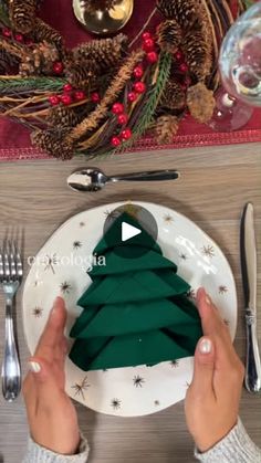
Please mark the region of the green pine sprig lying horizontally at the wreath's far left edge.
<svg viewBox="0 0 261 463"><path fill-rule="evenodd" d="M8 78L0 76L0 94L10 95L27 92L59 92L66 83L58 77L18 77Z"/></svg>

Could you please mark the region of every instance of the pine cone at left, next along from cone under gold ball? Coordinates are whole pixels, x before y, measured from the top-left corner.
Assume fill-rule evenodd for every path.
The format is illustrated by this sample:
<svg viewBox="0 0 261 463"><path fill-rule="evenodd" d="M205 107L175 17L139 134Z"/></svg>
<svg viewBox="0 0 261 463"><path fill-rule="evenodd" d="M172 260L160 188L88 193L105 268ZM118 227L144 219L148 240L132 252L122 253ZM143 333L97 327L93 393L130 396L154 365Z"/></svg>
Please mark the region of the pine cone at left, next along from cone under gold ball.
<svg viewBox="0 0 261 463"><path fill-rule="evenodd" d="M51 75L53 73L53 62L59 59L59 52L54 44L42 42L33 50L23 51L19 65L19 73L25 77L28 75Z"/></svg>

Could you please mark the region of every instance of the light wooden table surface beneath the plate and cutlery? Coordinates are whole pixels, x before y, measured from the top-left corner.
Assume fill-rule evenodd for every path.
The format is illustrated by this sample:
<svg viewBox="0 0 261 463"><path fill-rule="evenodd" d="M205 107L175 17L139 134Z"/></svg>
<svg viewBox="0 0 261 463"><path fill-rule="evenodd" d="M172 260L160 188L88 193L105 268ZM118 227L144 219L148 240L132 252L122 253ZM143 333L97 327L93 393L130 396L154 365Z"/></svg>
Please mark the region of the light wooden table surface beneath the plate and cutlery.
<svg viewBox="0 0 261 463"><path fill-rule="evenodd" d="M107 173L142 169L177 168L179 182L118 185L100 193L70 191L65 179L83 160L59 162L17 162L0 165L0 236L8 225L24 227L25 255L34 255L52 232L70 215L118 200L147 200L182 212L212 236L226 253L237 281L239 325L236 347L244 357L246 330L239 263L239 221L242 207L253 201L261 253L261 145L238 145L124 155L91 161ZM261 264L259 260L259 264ZM261 296L259 265L259 311ZM21 298L21 292L20 292ZM20 299L19 298L19 299ZM3 338L3 299L1 296L0 356ZM18 301L19 345L23 370L28 349L23 339L20 301ZM261 313L259 317L261 336ZM4 463L21 463L27 443L27 419L22 399L4 403L0 399L0 455ZM106 417L76 406L80 423L92 446L90 462L95 463L191 463L192 441L186 430L184 404L146 418ZM243 391L241 418L261 446L261 400ZM1 456L0 456L1 461Z"/></svg>

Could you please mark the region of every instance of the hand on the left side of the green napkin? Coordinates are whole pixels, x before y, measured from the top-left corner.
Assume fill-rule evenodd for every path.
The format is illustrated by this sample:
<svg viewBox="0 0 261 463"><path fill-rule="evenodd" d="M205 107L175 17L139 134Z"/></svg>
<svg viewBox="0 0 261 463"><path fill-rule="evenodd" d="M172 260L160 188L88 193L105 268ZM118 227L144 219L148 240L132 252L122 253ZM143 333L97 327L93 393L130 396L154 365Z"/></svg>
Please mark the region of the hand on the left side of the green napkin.
<svg viewBox="0 0 261 463"><path fill-rule="evenodd" d="M34 442L55 453L72 455L79 449L80 431L75 408L64 390L65 322L64 301L58 297L36 351L30 358L23 396Z"/></svg>

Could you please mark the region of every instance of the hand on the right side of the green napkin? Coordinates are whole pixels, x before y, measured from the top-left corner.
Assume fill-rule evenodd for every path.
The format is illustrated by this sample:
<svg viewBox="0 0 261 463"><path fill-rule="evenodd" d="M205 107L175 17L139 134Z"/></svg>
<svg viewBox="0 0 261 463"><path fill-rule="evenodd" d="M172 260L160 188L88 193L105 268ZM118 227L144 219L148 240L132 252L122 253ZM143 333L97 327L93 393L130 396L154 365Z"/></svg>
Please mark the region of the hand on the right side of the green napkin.
<svg viewBox="0 0 261 463"><path fill-rule="evenodd" d="M236 425L244 377L229 329L203 288L197 294L203 337L195 352L195 370L185 411L200 452L222 440Z"/></svg>

